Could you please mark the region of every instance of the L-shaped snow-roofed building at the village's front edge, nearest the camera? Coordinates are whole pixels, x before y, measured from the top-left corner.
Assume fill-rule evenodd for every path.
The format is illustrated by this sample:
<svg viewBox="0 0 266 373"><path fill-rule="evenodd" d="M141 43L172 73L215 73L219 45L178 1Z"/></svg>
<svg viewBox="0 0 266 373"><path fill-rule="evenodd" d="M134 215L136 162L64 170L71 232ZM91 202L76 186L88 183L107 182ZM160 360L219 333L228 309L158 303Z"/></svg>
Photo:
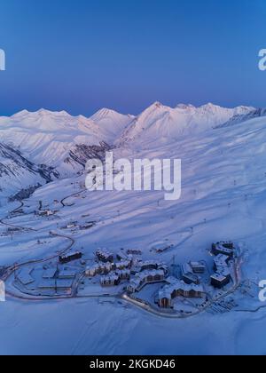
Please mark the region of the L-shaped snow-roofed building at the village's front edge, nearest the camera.
<svg viewBox="0 0 266 373"><path fill-rule="evenodd" d="M158 305L161 308L172 308L173 300L177 297L184 298L204 298L206 292L199 284L187 284L183 281L175 281L166 285L159 292Z"/></svg>

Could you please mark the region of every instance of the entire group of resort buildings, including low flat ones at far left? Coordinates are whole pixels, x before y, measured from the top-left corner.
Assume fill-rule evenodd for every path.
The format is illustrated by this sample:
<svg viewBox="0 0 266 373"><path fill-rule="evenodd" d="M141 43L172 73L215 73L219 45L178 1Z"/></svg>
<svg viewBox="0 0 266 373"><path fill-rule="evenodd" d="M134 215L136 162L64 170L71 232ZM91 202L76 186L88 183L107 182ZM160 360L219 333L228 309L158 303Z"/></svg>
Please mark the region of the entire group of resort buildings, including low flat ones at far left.
<svg viewBox="0 0 266 373"><path fill-rule="evenodd" d="M102 287L118 286L126 282L124 289L129 294L141 291L145 285L162 283L156 303L160 308L174 308L175 299L183 298L207 298L207 291L200 284L206 274L205 281L208 281L207 264L204 261L190 261L181 266L181 273L177 277L170 275L169 267L156 260L141 260L133 257L137 250L121 250L113 255L106 249L99 249L95 252L96 260L85 270L87 277L100 276L99 282ZM210 276L210 284L214 288L222 289L231 282L231 262L236 252L232 242L216 242L212 245L211 252L214 255L214 271ZM59 264L65 265L82 258L81 251L67 253L59 256ZM81 262L82 263L82 262ZM85 264L85 261L84 261ZM0 267L0 275L2 273ZM39 290L67 290L72 291L78 269L69 266L43 267L42 281L37 284ZM32 276L32 269L22 268L17 279L23 285L35 282Z"/></svg>

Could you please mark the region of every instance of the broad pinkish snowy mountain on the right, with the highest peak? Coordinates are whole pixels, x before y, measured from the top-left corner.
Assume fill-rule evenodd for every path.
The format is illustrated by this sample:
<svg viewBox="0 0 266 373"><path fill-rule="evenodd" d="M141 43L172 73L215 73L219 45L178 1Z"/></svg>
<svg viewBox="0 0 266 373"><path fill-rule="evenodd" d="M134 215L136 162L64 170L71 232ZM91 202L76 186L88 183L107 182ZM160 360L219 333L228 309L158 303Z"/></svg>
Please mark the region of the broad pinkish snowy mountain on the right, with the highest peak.
<svg viewBox="0 0 266 373"><path fill-rule="evenodd" d="M142 144L175 141L184 135L197 134L228 122L235 115L247 115L254 107L225 108L207 104L202 107L180 104L167 107L155 102L122 133L118 144L132 141Z"/></svg>

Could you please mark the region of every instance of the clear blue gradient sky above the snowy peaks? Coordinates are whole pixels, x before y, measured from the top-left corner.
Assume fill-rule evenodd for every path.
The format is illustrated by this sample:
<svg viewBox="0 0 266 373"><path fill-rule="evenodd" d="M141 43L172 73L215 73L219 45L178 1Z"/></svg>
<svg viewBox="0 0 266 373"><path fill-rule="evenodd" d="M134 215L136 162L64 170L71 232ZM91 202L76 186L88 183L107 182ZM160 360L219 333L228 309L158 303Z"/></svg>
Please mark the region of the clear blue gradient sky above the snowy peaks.
<svg viewBox="0 0 266 373"><path fill-rule="evenodd" d="M266 107L265 0L2 0L0 115Z"/></svg>

